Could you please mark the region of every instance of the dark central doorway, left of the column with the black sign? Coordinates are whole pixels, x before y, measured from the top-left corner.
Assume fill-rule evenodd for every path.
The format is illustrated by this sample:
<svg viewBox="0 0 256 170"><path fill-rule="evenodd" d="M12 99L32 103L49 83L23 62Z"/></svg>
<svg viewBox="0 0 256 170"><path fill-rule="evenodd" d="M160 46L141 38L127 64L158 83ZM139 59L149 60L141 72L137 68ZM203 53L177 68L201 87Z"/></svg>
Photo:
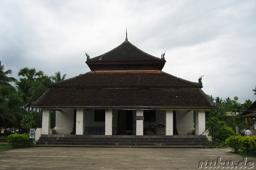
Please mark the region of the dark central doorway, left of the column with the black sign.
<svg viewBox="0 0 256 170"><path fill-rule="evenodd" d="M117 135L132 135L132 110L118 110L117 112Z"/></svg>

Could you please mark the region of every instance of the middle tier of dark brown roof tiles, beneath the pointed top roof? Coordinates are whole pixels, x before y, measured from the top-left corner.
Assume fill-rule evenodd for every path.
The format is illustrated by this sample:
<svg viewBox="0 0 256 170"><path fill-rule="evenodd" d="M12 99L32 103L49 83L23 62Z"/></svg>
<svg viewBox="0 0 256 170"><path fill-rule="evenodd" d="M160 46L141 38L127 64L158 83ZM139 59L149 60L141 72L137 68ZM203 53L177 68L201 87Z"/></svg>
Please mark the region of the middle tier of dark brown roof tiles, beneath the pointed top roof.
<svg viewBox="0 0 256 170"><path fill-rule="evenodd" d="M162 71L88 72L71 79L53 83L50 88L99 88L99 87L172 87L202 88L196 82L187 81Z"/></svg>

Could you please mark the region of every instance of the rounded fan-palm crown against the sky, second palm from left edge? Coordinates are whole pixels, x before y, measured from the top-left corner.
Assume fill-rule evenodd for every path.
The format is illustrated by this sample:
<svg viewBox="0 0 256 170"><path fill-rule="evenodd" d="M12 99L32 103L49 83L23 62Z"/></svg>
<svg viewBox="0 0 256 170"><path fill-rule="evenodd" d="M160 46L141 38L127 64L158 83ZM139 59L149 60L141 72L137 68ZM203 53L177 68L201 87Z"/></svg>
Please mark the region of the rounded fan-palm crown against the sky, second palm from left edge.
<svg viewBox="0 0 256 170"><path fill-rule="evenodd" d="M42 70L36 72L35 68L24 67L18 72L18 76L20 75L23 77L27 77L28 82L32 84L33 82L35 82L36 76L40 77L44 75L44 72Z"/></svg>

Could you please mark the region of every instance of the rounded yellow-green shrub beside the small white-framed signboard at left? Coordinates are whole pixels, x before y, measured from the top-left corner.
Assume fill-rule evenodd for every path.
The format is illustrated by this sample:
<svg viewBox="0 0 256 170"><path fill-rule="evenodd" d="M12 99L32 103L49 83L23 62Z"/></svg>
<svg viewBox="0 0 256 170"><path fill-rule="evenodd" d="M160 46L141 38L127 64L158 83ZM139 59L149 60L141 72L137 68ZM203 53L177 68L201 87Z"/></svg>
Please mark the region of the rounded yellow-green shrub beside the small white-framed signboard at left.
<svg viewBox="0 0 256 170"><path fill-rule="evenodd" d="M8 136L7 143L13 147L29 147L33 145L34 139L29 138L29 134L18 134L14 133Z"/></svg>

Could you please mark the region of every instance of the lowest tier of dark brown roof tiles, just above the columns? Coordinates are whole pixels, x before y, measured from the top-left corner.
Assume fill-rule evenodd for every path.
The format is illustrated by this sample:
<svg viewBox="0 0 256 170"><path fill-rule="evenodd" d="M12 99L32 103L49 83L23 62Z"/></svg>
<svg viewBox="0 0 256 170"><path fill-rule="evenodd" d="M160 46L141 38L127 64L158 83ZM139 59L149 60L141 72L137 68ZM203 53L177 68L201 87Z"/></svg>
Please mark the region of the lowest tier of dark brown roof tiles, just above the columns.
<svg viewBox="0 0 256 170"><path fill-rule="evenodd" d="M214 107L201 89L48 89L33 106Z"/></svg>

